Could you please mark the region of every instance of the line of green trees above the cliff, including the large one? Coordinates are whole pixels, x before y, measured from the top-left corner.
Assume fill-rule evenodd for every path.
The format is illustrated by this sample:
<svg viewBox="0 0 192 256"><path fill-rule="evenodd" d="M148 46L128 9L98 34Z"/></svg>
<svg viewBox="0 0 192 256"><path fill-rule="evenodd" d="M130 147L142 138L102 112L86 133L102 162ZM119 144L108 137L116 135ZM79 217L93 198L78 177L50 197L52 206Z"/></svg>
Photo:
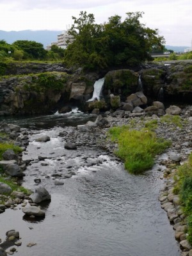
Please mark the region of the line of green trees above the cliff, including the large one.
<svg viewBox="0 0 192 256"><path fill-rule="evenodd" d="M80 12L72 17L74 24L68 32L74 40L66 50L52 45L51 51L35 41L17 40L12 45L0 41L0 60L62 60L67 66L100 70L127 67L152 60L150 52L163 49L164 38L157 29L140 22L142 12L128 12L122 20L119 15L108 22L96 24L92 13Z"/></svg>

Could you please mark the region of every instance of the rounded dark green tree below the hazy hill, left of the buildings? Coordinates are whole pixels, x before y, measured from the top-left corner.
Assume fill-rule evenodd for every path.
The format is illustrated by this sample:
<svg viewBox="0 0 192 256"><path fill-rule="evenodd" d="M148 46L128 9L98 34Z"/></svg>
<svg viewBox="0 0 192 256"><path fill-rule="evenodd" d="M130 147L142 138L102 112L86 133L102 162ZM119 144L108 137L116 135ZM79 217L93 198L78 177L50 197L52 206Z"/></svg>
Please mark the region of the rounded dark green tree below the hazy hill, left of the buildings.
<svg viewBox="0 0 192 256"><path fill-rule="evenodd" d="M17 40L12 44L17 49L24 52L24 58L43 60L47 51L44 49L44 45L35 41Z"/></svg>

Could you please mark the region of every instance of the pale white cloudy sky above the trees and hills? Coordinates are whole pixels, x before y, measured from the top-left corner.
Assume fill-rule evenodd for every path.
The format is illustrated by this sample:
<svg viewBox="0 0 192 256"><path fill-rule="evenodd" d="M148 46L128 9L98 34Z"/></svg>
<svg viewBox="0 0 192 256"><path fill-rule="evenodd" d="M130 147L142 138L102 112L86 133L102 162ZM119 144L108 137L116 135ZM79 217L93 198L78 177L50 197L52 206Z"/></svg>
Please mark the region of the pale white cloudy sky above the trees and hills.
<svg viewBox="0 0 192 256"><path fill-rule="evenodd" d="M124 19L126 12L144 12L141 22L159 29L166 45L191 47L191 0L0 0L0 30L62 31L81 11L93 13L97 23L115 14Z"/></svg>

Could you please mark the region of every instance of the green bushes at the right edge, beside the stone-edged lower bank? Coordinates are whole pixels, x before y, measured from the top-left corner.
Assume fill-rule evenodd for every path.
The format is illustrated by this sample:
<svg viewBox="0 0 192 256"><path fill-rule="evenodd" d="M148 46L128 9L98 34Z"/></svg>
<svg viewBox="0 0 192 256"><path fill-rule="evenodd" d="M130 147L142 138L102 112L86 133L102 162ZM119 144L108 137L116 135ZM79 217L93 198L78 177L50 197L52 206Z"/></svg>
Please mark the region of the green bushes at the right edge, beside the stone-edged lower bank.
<svg viewBox="0 0 192 256"><path fill-rule="evenodd" d="M177 169L175 180L177 185L174 191L180 195L184 213L188 220L187 239L192 244L192 153L189 155L188 161Z"/></svg>

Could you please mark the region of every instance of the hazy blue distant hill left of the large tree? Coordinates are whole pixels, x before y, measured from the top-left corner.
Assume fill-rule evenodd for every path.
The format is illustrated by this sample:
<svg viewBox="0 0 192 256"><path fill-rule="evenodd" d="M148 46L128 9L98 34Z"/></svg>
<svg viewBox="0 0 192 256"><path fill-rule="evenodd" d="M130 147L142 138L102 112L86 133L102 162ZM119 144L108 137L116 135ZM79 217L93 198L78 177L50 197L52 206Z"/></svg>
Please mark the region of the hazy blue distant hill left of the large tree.
<svg viewBox="0 0 192 256"><path fill-rule="evenodd" d="M8 44L13 44L17 40L29 40L41 43L46 47L51 42L57 42L61 31L51 30L22 30L22 31L3 31L0 30L0 40L5 40Z"/></svg>

